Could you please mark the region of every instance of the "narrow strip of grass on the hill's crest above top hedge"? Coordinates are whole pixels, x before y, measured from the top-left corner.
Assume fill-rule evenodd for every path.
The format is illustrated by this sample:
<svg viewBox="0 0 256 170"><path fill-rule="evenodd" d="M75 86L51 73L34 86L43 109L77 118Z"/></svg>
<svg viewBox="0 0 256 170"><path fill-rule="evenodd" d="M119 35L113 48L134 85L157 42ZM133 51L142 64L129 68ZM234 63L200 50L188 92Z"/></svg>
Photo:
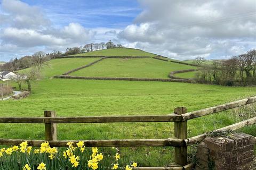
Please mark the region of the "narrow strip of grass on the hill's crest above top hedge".
<svg viewBox="0 0 256 170"><path fill-rule="evenodd" d="M111 48L111 49L103 49L97 50L88 53L75 54L69 56L150 56L154 57L155 54L144 52L140 49L134 48Z"/></svg>

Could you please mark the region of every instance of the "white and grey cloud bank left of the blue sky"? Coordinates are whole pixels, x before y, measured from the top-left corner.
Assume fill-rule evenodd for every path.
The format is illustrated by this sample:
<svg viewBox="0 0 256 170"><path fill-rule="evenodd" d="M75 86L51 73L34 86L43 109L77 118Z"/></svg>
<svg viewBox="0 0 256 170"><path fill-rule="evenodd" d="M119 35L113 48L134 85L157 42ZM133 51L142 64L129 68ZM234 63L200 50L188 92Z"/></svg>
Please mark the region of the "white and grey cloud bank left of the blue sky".
<svg viewBox="0 0 256 170"><path fill-rule="evenodd" d="M10 58L14 50L14 55L22 56L25 52L34 53L35 49L51 51L80 46L95 35L95 31L79 23L57 28L41 8L18 0L3 0L0 8L0 49L5 57L1 60Z"/></svg>

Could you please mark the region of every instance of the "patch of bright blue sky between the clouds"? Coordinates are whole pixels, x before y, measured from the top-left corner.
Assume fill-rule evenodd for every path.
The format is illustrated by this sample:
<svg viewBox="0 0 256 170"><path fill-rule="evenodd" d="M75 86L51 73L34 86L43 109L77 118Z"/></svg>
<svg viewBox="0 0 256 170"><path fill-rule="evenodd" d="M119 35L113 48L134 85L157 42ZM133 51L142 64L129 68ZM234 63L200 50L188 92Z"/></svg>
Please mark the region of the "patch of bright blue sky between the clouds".
<svg viewBox="0 0 256 170"><path fill-rule="evenodd" d="M125 28L142 11L135 0L35 0L22 1L41 7L53 23L59 26L77 22L86 28Z"/></svg>

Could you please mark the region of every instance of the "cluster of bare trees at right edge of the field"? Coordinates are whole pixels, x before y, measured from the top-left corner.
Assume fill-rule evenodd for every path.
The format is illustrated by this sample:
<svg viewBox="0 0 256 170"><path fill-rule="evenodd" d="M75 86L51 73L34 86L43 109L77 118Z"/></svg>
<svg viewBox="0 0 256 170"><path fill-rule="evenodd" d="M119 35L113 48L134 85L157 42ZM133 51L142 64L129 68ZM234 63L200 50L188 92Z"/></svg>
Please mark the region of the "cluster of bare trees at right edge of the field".
<svg viewBox="0 0 256 170"><path fill-rule="evenodd" d="M200 62L199 62L200 63ZM229 60L214 60L202 66L196 73L196 82L225 86L248 86L256 84L256 50L236 55Z"/></svg>

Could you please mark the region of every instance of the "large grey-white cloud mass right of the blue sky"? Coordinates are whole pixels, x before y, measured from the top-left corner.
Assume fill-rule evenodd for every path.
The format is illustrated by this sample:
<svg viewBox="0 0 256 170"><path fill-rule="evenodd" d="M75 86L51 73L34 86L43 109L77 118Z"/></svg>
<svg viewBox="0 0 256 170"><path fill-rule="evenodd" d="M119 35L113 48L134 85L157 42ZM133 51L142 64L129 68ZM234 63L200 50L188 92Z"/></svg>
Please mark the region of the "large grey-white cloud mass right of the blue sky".
<svg viewBox="0 0 256 170"><path fill-rule="evenodd" d="M137 48L180 60L227 58L255 48L247 43L256 40L253 0L139 2L145 10L118 35Z"/></svg>

